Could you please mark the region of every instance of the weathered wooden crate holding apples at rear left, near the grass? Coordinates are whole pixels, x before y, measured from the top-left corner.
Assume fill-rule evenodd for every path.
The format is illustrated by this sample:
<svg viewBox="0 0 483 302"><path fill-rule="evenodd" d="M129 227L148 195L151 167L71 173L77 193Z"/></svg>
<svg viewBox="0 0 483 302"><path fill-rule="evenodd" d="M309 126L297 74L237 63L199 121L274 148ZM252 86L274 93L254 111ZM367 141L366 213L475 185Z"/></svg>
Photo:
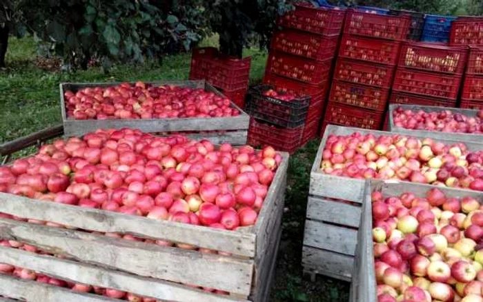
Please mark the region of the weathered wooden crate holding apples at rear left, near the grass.
<svg viewBox="0 0 483 302"><path fill-rule="evenodd" d="M205 81L156 81L147 82L152 85L178 85L189 88L204 88L206 91L214 92L223 96L212 85ZM209 139L212 143L231 143L232 145L244 145L248 135L248 124L250 117L235 103L231 103L233 108L239 110L237 117L213 117L206 118L183 118L183 119L113 119L113 120L75 120L68 119L66 115L66 105L63 98L67 90L77 91L87 87L110 87L120 83L61 83L60 100L63 120L63 128L66 136L80 137L88 132L97 129L121 129L132 128L143 132L199 132L199 134L185 134L190 139ZM209 132L206 132L209 131ZM215 132L216 131L216 132Z"/></svg>

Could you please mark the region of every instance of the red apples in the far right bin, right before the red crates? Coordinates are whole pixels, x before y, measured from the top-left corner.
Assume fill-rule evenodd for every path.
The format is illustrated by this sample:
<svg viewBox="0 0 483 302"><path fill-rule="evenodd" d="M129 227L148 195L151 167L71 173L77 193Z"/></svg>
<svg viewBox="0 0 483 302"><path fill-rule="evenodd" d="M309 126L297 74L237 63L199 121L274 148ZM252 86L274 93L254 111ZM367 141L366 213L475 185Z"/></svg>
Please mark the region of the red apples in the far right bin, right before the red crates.
<svg viewBox="0 0 483 302"><path fill-rule="evenodd" d="M475 117L467 117L450 110L425 112L398 107L393 112L393 121L396 127L411 130L483 133L483 110L479 110Z"/></svg>

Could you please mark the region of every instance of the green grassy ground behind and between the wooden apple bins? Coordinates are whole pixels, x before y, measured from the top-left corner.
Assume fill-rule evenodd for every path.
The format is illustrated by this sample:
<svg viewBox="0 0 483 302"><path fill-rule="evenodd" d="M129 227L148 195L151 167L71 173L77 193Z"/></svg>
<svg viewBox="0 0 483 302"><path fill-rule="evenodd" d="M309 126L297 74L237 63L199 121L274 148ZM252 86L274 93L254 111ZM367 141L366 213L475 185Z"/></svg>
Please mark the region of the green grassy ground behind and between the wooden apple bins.
<svg viewBox="0 0 483 302"><path fill-rule="evenodd" d="M213 46L213 40L206 41ZM250 83L261 81L266 53L246 50L253 57ZM0 72L0 143L61 122L59 83L135 80L182 80L188 78L190 54L164 58L162 66L147 62L141 66L121 65L104 74L100 68L77 72L48 72L34 63L33 39L11 39L8 69ZM282 221L276 279L270 301L347 301L348 283L319 277L316 283L302 279L301 252L304 236L308 181L319 141L311 141L290 159L286 211Z"/></svg>

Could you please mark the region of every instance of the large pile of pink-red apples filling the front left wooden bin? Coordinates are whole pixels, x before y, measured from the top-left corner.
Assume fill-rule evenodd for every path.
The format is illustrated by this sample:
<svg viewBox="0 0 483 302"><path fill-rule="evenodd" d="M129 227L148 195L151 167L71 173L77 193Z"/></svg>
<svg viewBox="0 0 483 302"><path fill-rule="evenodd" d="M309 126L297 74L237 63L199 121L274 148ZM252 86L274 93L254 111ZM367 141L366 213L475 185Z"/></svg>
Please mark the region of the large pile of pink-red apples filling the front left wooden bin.
<svg viewBox="0 0 483 302"><path fill-rule="evenodd" d="M0 192L235 230L255 223L280 161L271 147L97 130L0 167Z"/></svg>

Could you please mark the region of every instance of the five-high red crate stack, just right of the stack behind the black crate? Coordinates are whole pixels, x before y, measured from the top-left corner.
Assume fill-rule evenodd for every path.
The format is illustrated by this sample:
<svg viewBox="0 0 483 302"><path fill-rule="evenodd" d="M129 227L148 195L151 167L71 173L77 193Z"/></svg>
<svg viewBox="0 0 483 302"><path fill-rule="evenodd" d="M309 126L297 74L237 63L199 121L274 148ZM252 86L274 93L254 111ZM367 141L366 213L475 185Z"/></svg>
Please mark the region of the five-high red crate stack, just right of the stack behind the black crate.
<svg viewBox="0 0 483 302"><path fill-rule="evenodd" d="M411 17L388 10L348 10L321 133L328 124L380 130Z"/></svg>

